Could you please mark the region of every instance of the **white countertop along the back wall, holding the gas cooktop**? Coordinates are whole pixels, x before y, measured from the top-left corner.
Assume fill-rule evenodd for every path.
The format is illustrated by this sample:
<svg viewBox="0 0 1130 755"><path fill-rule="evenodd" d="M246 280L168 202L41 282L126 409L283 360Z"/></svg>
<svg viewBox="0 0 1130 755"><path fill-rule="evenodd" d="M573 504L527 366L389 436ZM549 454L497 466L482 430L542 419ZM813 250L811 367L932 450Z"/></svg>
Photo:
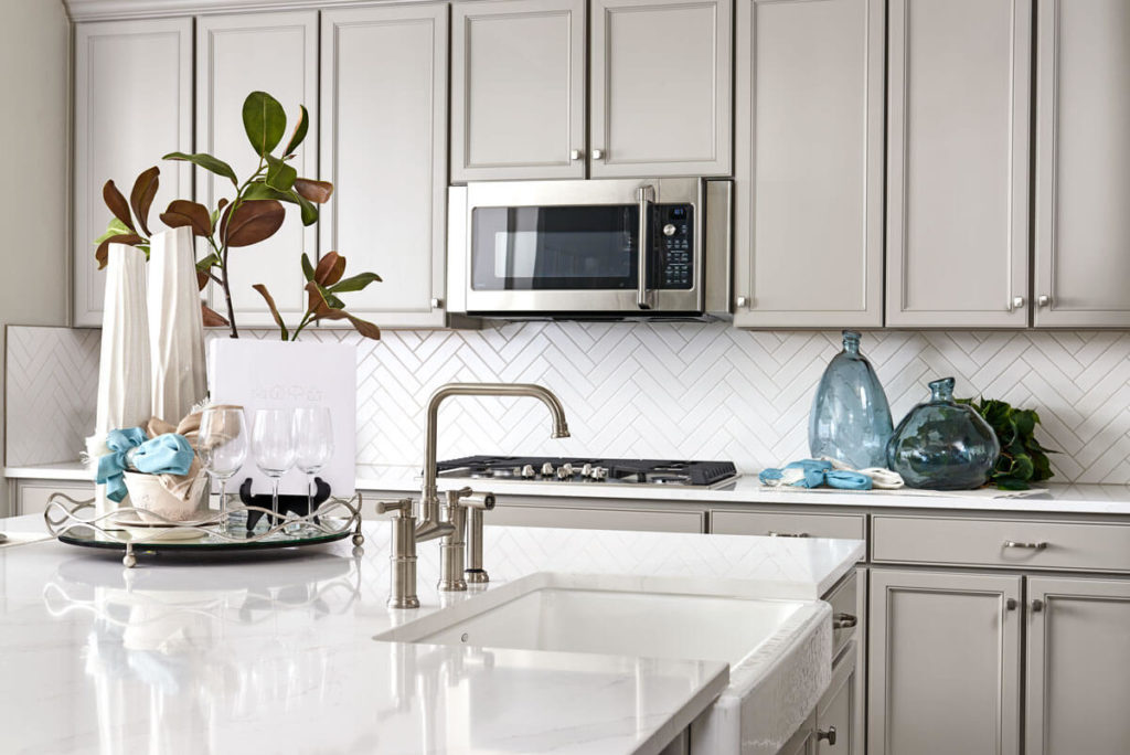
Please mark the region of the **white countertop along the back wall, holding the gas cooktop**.
<svg viewBox="0 0 1130 755"><path fill-rule="evenodd" d="M61 462L34 467L8 467L11 478L87 480L81 465ZM419 470L408 466L359 465L357 488L362 491L419 491ZM462 487L467 480L441 478L441 489ZM741 475L722 489L664 487L659 485L557 484L511 480L481 480L475 486L498 495L553 496L575 498L619 498L624 501L692 501L711 505L799 503L825 506L877 509L960 509L966 511L1043 512L1076 514L1130 514L1130 485L1069 485L1052 483L1046 493L1024 497L1001 497L999 491L807 491L765 487L756 475Z"/></svg>

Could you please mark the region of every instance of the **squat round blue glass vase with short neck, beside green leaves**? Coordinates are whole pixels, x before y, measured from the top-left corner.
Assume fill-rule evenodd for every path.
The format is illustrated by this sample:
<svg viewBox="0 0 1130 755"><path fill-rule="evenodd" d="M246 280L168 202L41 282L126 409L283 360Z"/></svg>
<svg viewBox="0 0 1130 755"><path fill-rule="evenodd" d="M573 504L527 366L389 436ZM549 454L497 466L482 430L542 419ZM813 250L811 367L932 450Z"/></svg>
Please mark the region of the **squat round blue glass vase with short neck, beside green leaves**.
<svg viewBox="0 0 1130 755"><path fill-rule="evenodd" d="M968 491L989 480L1000 454L997 433L972 407L954 401L954 379L930 383L932 396L903 417L887 465L909 487Z"/></svg>

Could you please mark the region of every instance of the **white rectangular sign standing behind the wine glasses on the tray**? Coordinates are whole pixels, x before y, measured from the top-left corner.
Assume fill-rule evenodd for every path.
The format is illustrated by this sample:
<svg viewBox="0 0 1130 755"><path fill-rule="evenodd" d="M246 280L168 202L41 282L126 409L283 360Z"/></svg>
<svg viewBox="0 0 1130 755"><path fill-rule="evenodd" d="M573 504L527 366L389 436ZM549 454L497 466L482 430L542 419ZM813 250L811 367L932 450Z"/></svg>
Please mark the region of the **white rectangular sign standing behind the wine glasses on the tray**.
<svg viewBox="0 0 1130 755"><path fill-rule="evenodd" d="M336 496L354 494L357 480L357 349L350 344L288 342L253 338L216 338L208 345L208 384L212 403L237 403L251 432L255 409L324 406L333 423L333 458L319 472ZM271 480L255 467L251 444L243 469L228 483L235 492L251 477L257 495L271 492ZM305 494L306 476L292 469L280 494Z"/></svg>

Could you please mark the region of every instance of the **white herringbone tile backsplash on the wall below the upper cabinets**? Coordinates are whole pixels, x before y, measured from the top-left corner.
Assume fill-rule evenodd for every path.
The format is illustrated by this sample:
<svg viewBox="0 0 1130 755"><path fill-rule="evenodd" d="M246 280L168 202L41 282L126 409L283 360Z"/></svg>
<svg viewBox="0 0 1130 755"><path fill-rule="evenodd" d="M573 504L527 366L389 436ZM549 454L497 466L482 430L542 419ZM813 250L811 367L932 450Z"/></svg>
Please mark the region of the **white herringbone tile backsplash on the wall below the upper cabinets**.
<svg viewBox="0 0 1130 755"><path fill-rule="evenodd" d="M36 341L40 356L31 358L26 348L14 353L15 330L9 330L9 411L14 400L56 410L59 400L43 389L47 381L33 373L88 364L88 357L52 361L40 352L78 347L90 349L96 362L97 339L93 346ZM358 345L357 455L363 463L418 465L424 403L445 382L536 382L560 397L572 437L549 439L549 419L537 401L457 398L441 410L441 458L730 459L746 471L807 454L812 392L841 341L834 331L744 331L724 323L572 322L385 331L380 342L345 331L311 338ZM871 331L862 349L896 419L927 398L927 382L954 375L958 396L1036 408L1042 442L1062 451L1052 458L1058 479L1130 484L1130 333ZM71 381L82 387L68 390L88 391L93 405L94 380L96 374L85 375ZM54 384L67 382L55 379ZM24 387L17 396L15 387ZM20 417L38 414L28 409ZM9 416L9 439L19 432L16 420ZM12 450L9 442L9 465L15 463Z"/></svg>

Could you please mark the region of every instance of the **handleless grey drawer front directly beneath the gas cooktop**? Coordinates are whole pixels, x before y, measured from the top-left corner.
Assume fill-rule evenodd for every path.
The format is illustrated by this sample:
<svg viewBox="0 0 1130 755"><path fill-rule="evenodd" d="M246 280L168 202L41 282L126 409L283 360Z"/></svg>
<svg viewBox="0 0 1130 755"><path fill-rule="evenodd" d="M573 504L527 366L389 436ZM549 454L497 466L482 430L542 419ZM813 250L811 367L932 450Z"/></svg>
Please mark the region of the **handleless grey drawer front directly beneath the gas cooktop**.
<svg viewBox="0 0 1130 755"><path fill-rule="evenodd" d="M565 506L507 506L498 504L483 517L485 524L559 527L583 530L636 530L642 532L702 532L697 511L641 511L627 509L570 509Z"/></svg>

